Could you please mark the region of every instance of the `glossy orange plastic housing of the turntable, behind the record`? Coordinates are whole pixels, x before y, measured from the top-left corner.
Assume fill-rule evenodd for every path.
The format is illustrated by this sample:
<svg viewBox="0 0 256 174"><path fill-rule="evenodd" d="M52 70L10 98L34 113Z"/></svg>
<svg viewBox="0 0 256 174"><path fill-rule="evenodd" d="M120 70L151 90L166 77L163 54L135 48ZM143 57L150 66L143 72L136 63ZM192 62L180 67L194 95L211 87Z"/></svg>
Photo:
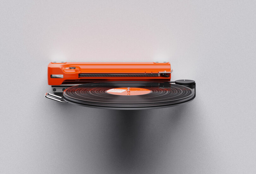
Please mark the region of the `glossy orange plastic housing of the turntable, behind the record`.
<svg viewBox="0 0 256 174"><path fill-rule="evenodd" d="M75 69L70 69L75 68ZM48 84L82 84L99 81L170 81L169 62L51 62L48 65ZM157 73L159 76L157 76ZM81 77L93 74L93 77ZM101 74L97 77L97 74ZM108 76L110 74L110 76ZM117 74L117 75L116 75ZM128 74L125 77L122 74ZM133 75L133 74L139 74ZM143 77L143 74L145 76ZM150 76L155 75L155 76ZM102 77L104 76L105 77ZM148 77L147 77L148 76Z"/></svg>

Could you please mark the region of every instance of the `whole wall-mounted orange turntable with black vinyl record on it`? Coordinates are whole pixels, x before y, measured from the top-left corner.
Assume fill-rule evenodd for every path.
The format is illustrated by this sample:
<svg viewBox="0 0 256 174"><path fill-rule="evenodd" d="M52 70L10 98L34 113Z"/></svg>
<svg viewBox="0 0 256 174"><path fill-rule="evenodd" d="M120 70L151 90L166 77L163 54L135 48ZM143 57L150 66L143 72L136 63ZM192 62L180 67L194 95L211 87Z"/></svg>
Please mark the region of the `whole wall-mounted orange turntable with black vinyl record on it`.
<svg viewBox="0 0 256 174"><path fill-rule="evenodd" d="M192 101L193 80L171 82L169 62L51 62L46 98L86 107L152 109Z"/></svg>

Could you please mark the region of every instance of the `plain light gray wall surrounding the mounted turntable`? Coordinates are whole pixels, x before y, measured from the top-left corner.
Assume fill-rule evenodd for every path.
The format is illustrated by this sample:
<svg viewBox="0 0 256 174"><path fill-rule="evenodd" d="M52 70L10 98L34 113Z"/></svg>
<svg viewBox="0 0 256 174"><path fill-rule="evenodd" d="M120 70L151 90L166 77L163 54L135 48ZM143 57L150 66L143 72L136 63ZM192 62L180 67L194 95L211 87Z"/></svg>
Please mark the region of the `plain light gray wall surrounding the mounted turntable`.
<svg viewBox="0 0 256 174"><path fill-rule="evenodd" d="M255 1L1 1L0 173L256 173ZM182 106L44 97L50 61L170 61Z"/></svg>

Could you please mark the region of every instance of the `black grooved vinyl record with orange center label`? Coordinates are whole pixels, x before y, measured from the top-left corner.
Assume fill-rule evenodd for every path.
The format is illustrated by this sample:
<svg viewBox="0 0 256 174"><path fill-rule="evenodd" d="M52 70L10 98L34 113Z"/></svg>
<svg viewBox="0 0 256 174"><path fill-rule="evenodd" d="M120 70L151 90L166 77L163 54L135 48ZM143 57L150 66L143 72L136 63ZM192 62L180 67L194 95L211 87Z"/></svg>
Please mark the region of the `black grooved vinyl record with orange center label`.
<svg viewBox="0 0 256 174"><path fill-rule="evenodd" d="M108 109L149 109L170 107L195 97L191 88L164 82L95 82L67 88L69 103Z"/></svg>

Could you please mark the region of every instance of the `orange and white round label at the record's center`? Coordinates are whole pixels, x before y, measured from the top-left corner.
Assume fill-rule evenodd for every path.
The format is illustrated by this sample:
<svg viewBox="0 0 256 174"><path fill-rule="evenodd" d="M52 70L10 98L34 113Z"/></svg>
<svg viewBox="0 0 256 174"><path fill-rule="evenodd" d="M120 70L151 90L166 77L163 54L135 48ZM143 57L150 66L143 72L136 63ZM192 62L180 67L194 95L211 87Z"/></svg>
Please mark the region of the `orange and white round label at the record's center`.
<svg viewBox="0 0 256 174"><path fill-rule="evenodd" d="M150 93L151 90L144 88L113 88L107 90L108 94L119 95L119 96L137 96Z"/></svg>

